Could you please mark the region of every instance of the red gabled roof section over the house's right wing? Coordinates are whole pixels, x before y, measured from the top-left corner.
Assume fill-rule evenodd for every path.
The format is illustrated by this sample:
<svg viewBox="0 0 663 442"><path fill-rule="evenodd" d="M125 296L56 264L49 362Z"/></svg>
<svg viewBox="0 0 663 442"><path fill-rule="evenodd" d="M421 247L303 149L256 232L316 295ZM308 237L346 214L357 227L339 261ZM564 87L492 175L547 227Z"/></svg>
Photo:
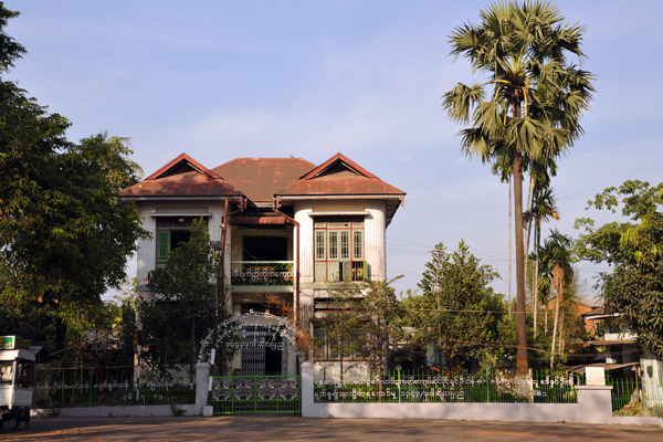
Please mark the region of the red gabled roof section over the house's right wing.
<svg viewBox="0 0 663 442"><path fill-rule="evenodd" d="M393 194L402 190L382 181L341 154L336 154L301 180L278 191L280 196L305 194Z"/></svg>

